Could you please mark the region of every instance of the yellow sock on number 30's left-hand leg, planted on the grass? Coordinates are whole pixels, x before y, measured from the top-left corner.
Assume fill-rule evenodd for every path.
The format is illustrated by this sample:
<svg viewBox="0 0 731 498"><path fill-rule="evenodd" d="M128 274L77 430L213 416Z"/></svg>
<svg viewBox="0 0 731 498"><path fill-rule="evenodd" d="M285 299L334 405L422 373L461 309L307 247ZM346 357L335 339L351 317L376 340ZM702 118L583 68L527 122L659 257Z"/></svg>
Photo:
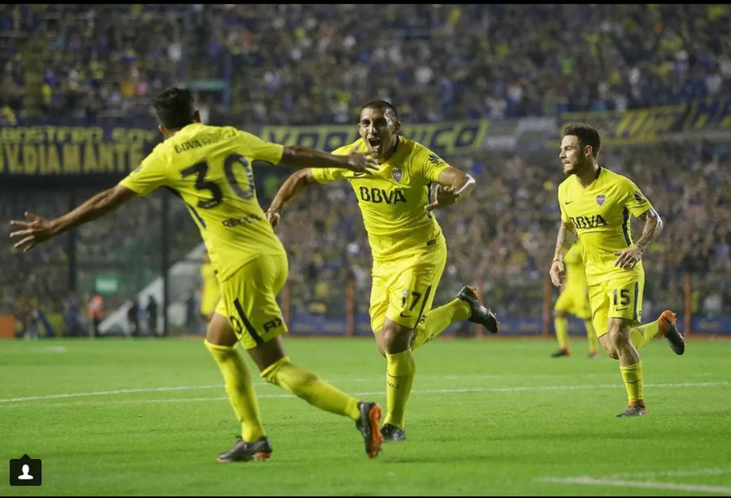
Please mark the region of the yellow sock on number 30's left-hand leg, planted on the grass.
<svg viewBox="0 0 731 498"><path fill-rule="evenodd" d="M203 344L224 376L226 393L241 423L241 438L246 442L256 441L264 435L264 427L249 367L235 347L218 346L207 340Z"/></svg>

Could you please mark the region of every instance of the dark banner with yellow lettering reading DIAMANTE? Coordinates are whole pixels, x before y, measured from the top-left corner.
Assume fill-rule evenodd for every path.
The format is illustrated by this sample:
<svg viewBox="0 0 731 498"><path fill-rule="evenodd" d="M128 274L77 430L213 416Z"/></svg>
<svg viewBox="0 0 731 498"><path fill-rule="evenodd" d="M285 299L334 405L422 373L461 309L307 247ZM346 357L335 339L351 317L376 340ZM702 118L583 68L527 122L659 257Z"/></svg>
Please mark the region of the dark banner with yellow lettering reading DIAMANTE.
<svg viewBox="0 0 731 498"><path fill-rule="evenodd" d="M0 176L122 176L160 140L157 129L2 127Z"/></svg>

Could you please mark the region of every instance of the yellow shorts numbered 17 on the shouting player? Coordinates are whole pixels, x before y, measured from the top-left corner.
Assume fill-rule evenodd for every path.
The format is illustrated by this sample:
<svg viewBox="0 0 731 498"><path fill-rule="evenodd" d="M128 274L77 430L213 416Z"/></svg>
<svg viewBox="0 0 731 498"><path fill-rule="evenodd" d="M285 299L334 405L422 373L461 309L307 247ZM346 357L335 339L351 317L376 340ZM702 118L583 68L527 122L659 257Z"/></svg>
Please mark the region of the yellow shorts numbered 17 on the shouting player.
<svg viewBox="0 0 731 498"><path fill-rule="evenodd" d="M423 327L446 264L444 241L398 260L374 261L371 330L380 331L386 318L408 328Z"/></svg>

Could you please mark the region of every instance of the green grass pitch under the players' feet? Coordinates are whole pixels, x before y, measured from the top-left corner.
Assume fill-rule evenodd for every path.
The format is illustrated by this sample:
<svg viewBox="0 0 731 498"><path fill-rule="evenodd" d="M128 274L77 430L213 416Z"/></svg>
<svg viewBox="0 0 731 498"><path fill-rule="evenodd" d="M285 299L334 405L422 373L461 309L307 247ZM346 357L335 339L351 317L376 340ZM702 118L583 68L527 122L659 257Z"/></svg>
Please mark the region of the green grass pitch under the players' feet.
<svg viewBox="0 0 731 498"><path fill-rule="evenodd" d="M372 339L286 343L294 363L385 407ZM578 338L570 358L555 349L426 344L408 440L374 460L350 420L257 376L273 457L218 464L238 424L202 338L0 342L0 495L731 495L730 341L640 350L649 414L633 419L614 417L618 363L586 358ZM42 486L9 486L24 453L42 459Z"/></svg>

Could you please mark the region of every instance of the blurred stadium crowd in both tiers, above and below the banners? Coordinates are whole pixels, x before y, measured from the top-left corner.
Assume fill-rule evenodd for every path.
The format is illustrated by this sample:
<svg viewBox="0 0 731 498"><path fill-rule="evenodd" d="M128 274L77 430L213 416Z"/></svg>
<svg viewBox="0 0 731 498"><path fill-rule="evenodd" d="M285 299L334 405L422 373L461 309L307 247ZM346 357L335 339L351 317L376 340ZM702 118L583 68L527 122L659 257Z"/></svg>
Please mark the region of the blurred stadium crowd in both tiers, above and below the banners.
<svg viewBox="0 0 731 498"><path fill-rule="evenodd" d="M375 98L394 102L408 123L673 104L731 94L731 42L717 35L730 24L729 7L701 4L388 5L379 15L355 4L6 4L0 126L59 115L85 123L149 118L150 98L164 86L217 78L230 83L230 105L200 94L205 121L244 128L355 123L360 105ZM681 309L682 273L693 271L694 308L731 312L723 278L731 271L730 157L729 148L670 143L602 154L602 164L631 176L666 222L645 257L645 299L657 309ZM558 222L557 152L446 159L479 187L459 209L437 214L450 258L436 303L477 276L499 312L539 314ZM266 182L264 208L273 195ZM146 284L158 264L160 199L79 230L80 274L132 274L134 266L137 284ZM67 192L3 192L0 218L26 209L52 216L68 202ZM171 206L175 261L199 239L185 208ZM10 228L0 226L7 241ZM635 225L635 237L640 230ZM305 192L279 231L291 254L295 312L341 313L351 278L359 306L367 306L371 260L349 186ZM62 237L27 254L0 252L0 314L62 312L68 247ZM91 291L91 280L77 281L80 294Z"/></svg>

